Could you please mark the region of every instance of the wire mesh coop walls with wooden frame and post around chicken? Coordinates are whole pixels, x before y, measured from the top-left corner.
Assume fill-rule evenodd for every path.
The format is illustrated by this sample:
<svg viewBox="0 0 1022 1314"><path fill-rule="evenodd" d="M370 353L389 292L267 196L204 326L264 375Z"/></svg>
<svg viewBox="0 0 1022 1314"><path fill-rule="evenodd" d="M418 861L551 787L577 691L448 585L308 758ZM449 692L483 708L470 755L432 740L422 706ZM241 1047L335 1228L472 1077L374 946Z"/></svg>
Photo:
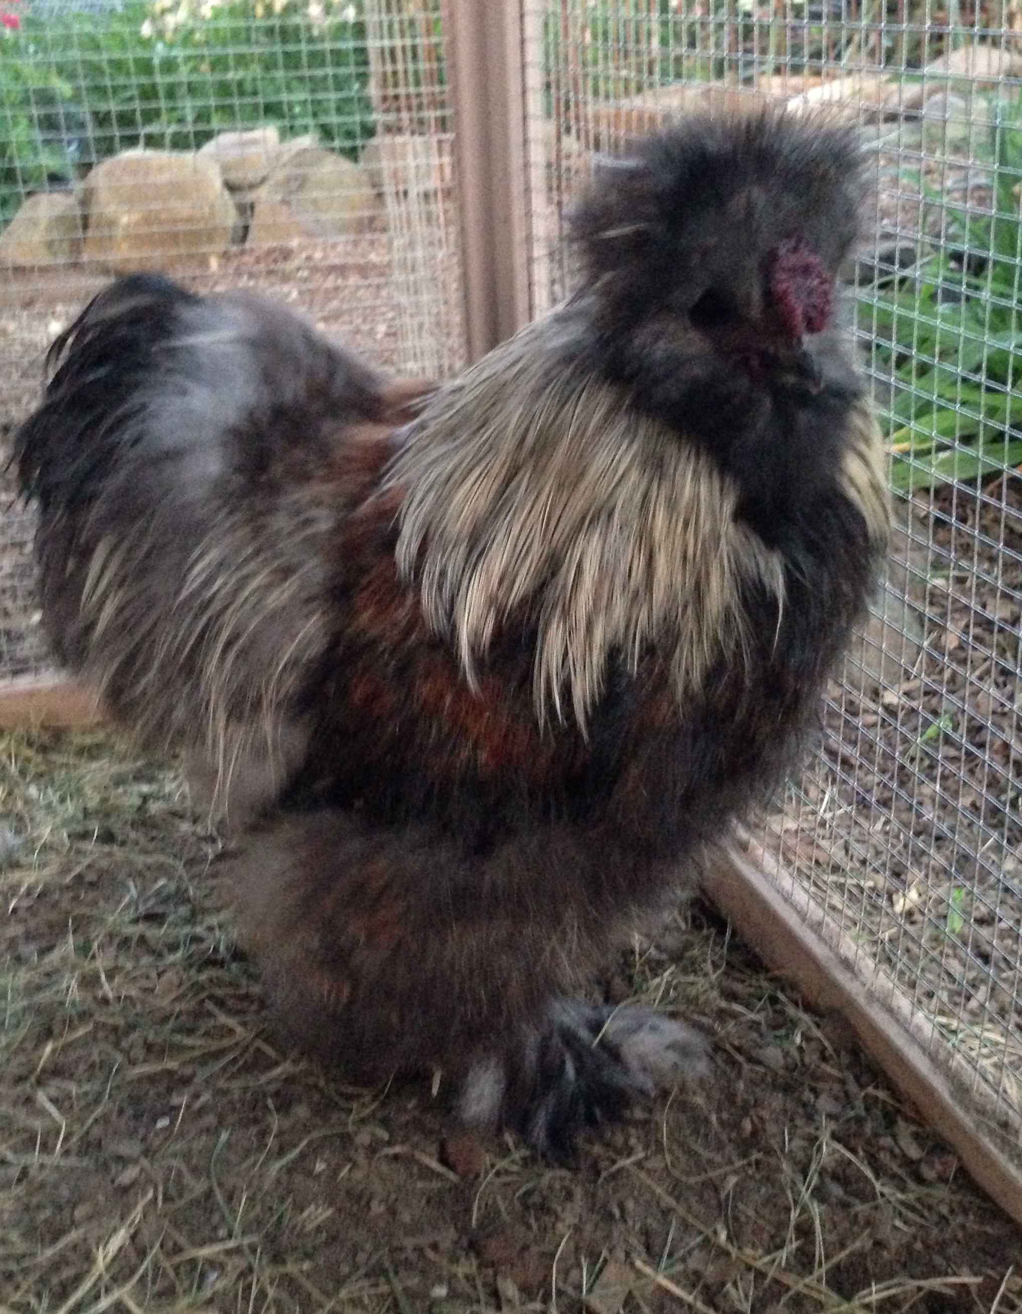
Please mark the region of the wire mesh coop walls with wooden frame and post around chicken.
<svg viewBox="0 0 1022 1314"><path fill-rule="evenodd" d="M892 552L801 781L707 884L1022 1219L1014 0L8 0L0 17L4 434L112 273L261 288L380 365L445 376L570 288L571 198L632 134L763 102L858 126L874 192L845 280ZM0 708L24 708L58 675L32 514L3 494Z"/></svg>

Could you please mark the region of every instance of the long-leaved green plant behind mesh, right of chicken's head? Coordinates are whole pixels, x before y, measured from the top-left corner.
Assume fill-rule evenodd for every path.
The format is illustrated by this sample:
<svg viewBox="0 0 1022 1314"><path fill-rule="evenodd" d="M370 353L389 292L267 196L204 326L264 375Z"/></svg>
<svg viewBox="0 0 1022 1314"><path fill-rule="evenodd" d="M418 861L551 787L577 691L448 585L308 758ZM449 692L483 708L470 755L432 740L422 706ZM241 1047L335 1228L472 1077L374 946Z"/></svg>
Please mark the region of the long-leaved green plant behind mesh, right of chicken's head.
<svg viewBox="0 0 1022 1314"><path fill-rule="evenodd" d="M1022 102L998 102L993 213L948 205L941 254L902 288L863 294L859 327L891 380L881 422L900 493L1022 463Z"/></svg>

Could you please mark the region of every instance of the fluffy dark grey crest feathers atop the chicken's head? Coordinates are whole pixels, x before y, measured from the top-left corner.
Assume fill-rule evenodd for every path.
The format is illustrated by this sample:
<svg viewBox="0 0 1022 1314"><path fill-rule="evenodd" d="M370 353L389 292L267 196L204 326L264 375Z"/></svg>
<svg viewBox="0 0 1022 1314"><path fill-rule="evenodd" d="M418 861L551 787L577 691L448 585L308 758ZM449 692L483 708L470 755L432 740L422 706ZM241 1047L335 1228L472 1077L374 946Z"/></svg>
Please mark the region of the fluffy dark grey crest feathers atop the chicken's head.
<svg viewBox="0 0 1022 1314"><path fill-rule="evenodd" d="M570 234L612 327L679 286L698 300L708 256L741 268L801 239L837 271L864 191L856 137L833 120L690 114L598 168Z"/></svg>

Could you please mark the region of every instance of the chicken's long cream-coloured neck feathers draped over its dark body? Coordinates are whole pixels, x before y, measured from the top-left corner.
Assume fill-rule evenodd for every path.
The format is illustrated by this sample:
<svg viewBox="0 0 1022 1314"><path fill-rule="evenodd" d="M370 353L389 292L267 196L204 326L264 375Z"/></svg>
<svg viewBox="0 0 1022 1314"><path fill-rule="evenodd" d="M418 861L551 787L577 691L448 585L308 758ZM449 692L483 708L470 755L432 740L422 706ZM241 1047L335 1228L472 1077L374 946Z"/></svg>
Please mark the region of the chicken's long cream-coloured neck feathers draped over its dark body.
<svg viewBox="0 0 1022 1314"><path fill-rule="evenodd" d="M705 449L629 405L570 330L556 311L437 394L385 487L405 490L398 569L466 678L524 618L537 719L585 731L613 654L634 670L655 649L679 702L696 694L745 649L746 586L780 608L784 562Z"/></svg>

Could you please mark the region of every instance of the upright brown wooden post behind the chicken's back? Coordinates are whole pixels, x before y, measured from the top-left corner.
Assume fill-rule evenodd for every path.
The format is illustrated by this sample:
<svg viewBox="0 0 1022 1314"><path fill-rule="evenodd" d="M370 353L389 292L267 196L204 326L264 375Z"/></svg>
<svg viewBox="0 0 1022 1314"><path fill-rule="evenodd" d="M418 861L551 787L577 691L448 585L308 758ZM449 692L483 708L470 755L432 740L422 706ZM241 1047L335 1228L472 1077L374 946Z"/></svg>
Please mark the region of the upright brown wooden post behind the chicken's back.
<svg viewBox="0 0 1022 1314"><path fill-rule="evenodd" d="M469 359L529 319L523 0L445 0Z"/></svg>

